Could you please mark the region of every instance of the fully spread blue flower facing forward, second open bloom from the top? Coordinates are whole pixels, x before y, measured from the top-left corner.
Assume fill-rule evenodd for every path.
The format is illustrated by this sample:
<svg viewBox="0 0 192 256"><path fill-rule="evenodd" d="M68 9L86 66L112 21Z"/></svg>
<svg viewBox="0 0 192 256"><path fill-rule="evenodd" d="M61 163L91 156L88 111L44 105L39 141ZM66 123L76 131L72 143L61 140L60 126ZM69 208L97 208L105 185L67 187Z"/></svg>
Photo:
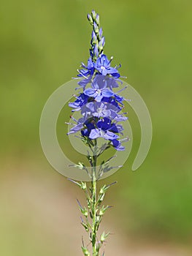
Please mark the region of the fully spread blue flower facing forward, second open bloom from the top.
<svg viewBox="0 0 192 256"><path fill-rule="evenodd" d="M103 97L109 98L114 95L113 91L106 88L106 85L102 87L96 81L93 81L92 88L85 89L84 94L88 97L93 97L97 102L101 102Z"/></svg>

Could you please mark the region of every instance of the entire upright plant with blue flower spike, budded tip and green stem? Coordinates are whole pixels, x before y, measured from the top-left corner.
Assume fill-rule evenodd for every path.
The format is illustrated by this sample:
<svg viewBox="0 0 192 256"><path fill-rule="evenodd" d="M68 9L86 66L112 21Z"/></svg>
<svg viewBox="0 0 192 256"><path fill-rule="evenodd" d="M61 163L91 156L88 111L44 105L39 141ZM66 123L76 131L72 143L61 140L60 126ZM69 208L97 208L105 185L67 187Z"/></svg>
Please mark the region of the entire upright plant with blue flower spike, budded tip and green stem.
<svg viewBox="0 0 192 256"><path fill-rule="evenodd" d="M78 94L74 95L74 102L69 102L69 107L72 108L72 113L79 112L79 119L70 116L71 121L66 123L72 127L67 135L79 133L76 136L85 146L88 147L86 158L91 167L87 167L83 162L78 162L77 167L82 172L86 172L90 178L91 184L88 186L86 182L72 181L85 193L87 206L82 206L80 201L77 203L82 214L81 225L88 233L90 244L85 245L82 238L82 253L86 256L104 256L104 252L99 254L101 247L105 243L110 233L101 233L99 236L99 225L104 217L107 209L111 206L104 206L104 197L112 185L104 185L97 192L99 179L104 173L109 172L113 168L120 166L111 166L110 161L116 156L109 159L101 159L103 153L108 148L115 148L117 151L125 150L122 145L128 138L120 138L123 136L123 124L120 122L126 121L126 113L123 110L123 97L115 92L114 89L120 86L119 66L112 67L112 57L110 59L104 55L103 49L105 39L103 30L100 27L99 15L92 11L88 14L88 21L92 26L91 48L88 64L82 63L82 69L78 69L77 78L80 79L77 89L80 89ZM124 90L124 89L123 89ZM99 141L102 140L102 143Z"/></svg>

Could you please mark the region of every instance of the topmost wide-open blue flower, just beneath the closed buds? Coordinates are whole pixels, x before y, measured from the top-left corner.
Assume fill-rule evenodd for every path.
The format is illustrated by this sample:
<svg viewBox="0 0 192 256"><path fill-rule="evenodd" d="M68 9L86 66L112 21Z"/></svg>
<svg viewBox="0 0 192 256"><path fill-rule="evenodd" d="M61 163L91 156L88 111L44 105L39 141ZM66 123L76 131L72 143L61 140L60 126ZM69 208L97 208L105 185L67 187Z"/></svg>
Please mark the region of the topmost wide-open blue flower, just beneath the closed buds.
<svg viewBox="0 0 192 256"><path fill-rule="evenodd" d="M94 65L95 69L98 70L101 75L112 75L115 78L119 78L120 74L118 73L118 69L114 67L110 67L111 60L107 59L107 56L102 54L97 60L96 64Z"/></svg>

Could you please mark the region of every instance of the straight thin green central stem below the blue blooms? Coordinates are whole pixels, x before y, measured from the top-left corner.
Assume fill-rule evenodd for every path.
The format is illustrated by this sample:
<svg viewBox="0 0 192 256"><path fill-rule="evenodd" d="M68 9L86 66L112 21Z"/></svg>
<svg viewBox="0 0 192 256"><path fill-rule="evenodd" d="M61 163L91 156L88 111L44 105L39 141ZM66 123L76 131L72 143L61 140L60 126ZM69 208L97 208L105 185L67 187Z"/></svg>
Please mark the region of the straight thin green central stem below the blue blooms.
<svg viewBox="0 0 192 256"><path fill-rule="evenodd" d="M97 256L96 252L96 155L93 156L93 168L92 168L92 252L93 256Z"/></svg>

